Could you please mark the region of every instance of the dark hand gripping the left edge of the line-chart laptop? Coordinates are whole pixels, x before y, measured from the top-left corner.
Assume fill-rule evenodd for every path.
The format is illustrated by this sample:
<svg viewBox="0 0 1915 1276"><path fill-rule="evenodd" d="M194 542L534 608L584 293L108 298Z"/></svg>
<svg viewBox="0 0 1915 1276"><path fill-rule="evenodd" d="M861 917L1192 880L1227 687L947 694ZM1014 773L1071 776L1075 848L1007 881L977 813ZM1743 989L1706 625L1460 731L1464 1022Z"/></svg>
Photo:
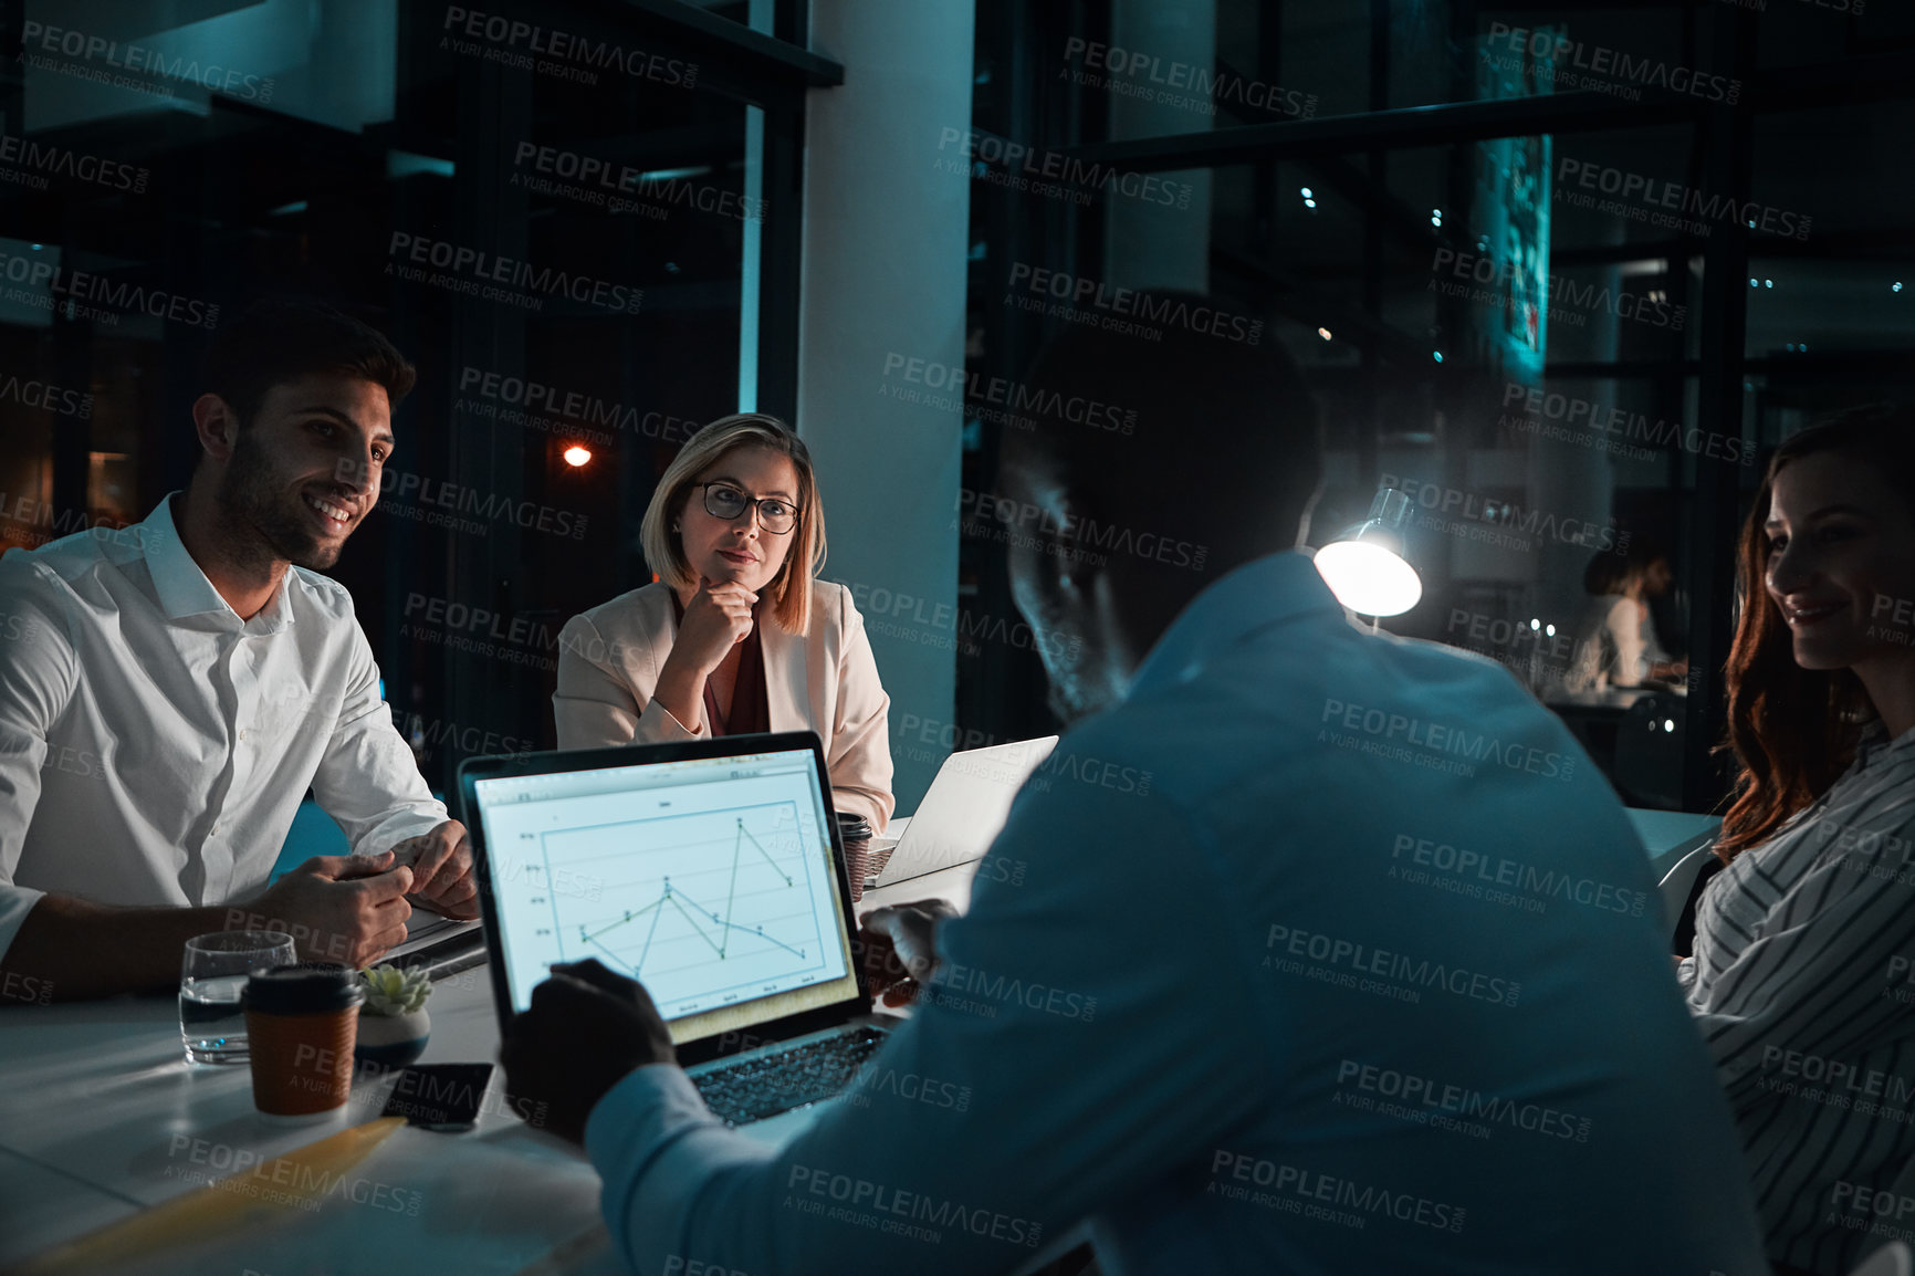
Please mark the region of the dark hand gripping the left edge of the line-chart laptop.
<svg viewBox="0 0 1915 1276"><path fill-rule="evenodd" d="M519 1111L546 1109L546 1128L586 1142L586 1119L605 1092L647 1063L676 1063L672 1033L643 985L597 958L559 962L515 1015L498 1060ZM525 1100L525 1102L521 1102Z"/></svg>

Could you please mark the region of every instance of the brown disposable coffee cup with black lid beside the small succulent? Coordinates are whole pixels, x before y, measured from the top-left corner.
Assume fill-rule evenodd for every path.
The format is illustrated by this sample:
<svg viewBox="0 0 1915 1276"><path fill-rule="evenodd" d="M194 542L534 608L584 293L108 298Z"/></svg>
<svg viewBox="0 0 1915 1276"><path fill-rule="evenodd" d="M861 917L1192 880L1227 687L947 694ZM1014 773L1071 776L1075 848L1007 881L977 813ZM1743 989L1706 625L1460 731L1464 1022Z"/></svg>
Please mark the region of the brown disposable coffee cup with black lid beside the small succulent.
<svg viewBox="0 0 1915 1276"><path fill-rule="evenodd" d="M272 1117L312 1117L352 1096L352 1044L366 1000L358 971L299 962L253 971L245 992L253 1105Z"/></svg>

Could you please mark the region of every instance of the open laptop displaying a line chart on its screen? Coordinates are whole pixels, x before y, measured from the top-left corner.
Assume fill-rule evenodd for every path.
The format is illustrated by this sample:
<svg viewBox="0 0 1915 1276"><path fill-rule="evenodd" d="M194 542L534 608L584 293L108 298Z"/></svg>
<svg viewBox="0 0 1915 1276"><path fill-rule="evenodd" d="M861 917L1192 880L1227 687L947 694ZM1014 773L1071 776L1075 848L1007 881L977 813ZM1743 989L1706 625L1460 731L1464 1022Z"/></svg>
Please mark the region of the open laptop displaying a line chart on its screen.
<svg viewBox="0 0 1915 1276"><path fill-rule="evenodd" d="M829 793L812 732L463 763L500 1029L553 962L597 958L730 1125L843 1090L885 1029Z"/></svg>

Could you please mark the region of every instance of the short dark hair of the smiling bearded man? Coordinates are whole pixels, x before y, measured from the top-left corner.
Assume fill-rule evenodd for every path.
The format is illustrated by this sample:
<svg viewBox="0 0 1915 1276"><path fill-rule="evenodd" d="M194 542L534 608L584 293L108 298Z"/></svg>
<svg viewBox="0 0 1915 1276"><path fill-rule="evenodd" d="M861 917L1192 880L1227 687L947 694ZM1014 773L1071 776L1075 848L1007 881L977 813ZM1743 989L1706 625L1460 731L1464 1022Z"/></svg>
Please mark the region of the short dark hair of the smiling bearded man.
<svg viewBox="0 0 1915 1276"><path fill-rule="evenodd" d="M247 307L213 339L205 389L249 425L266 391L314 374L383 385L393 408L417 379L417 370L375 328L318 301L270 297Z"/></svg>

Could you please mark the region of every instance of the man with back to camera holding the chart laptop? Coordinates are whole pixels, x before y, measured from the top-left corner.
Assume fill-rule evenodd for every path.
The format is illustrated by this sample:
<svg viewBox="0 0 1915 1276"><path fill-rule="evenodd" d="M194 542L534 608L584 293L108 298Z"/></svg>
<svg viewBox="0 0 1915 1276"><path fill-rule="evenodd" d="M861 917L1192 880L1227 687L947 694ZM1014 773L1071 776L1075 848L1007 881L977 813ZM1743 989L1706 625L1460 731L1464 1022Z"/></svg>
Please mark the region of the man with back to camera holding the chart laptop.
<svg viewBox="0 0 1915 1276"><path fill-rule="evenodd" d="M1505 671L1360 630L1291 548L1321 444L1289 358L1080 328L1026 383L1138 425L1007 431L965 494L1076 726L965 916L866 918L935 939L912 1019L779 1150L597 962L504 1042L624 1261L1015 1270L1088 1219L1109 1272L1766 1276L1622 807Z"/></svg>

